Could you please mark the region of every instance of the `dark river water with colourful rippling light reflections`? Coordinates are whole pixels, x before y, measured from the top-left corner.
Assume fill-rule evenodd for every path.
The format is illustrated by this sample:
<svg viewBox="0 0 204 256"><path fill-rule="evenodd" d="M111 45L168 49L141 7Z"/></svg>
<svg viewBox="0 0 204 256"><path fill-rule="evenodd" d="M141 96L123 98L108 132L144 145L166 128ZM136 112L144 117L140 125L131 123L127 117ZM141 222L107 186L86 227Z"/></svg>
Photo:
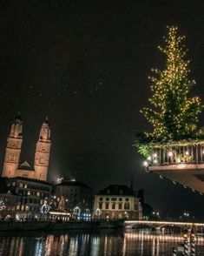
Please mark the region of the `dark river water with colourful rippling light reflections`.
<svg viewBox="0 0 204 256"><path fill-rule="evenodd" d="M181 234L161 234L145 230L0 233L0 255L172 256L172 247L182 241ZM197 241L196 256L198 255L204 255L203 237L199 237Z"/></svg>

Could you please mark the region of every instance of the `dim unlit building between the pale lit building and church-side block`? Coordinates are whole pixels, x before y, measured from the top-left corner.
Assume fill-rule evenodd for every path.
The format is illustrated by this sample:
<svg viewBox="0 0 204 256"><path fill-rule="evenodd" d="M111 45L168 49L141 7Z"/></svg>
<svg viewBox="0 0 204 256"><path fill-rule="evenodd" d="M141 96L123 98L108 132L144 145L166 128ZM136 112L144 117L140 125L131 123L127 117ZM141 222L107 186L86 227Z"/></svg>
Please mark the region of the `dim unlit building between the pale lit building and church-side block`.
<svg viewBox="0 0 204 256"><path fill-rule="evenodd" d="M88 212L88 209L91 212L92 210L93 191L80 181L64 180L62 183L56 184L54 194L58 200L63 196L68 211L74 211L75 208L81 212L85 210Z"/></svg>

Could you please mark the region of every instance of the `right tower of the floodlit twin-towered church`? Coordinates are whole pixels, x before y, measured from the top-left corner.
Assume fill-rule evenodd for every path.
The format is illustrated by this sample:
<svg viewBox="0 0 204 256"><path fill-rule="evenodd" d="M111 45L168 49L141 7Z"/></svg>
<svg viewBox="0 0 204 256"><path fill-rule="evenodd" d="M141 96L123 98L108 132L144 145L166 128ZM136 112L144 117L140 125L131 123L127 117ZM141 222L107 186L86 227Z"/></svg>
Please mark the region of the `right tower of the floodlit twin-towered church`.
<svg viewBox="0 0 204 256"><path fill-rule="evenodd" d="M48 118L41 127L40 136L36 143L36 155L34 162L35 178L46 181L49 166L50 153L50 129Z"/></svg>

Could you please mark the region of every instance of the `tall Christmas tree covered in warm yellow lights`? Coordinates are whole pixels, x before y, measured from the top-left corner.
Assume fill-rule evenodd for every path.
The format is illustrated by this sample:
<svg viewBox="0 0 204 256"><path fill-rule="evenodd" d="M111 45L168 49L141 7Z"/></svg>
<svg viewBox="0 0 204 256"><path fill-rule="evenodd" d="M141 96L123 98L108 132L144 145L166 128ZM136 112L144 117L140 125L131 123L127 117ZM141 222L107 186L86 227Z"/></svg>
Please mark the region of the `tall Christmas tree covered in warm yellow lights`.
<svg viewBox="0 0 204 256"><path fill-rule="evenodd" d="M141 111L154 128L152 133L145 134L150 140L194 138L198 133L198 116L203 105L200 98L188 97L195 82L189 78L184 38L178 35L176 27L169 27L166 45L159 47L166 56L165 68L152 70L154 75L149 77L152 108Z"/></svg>

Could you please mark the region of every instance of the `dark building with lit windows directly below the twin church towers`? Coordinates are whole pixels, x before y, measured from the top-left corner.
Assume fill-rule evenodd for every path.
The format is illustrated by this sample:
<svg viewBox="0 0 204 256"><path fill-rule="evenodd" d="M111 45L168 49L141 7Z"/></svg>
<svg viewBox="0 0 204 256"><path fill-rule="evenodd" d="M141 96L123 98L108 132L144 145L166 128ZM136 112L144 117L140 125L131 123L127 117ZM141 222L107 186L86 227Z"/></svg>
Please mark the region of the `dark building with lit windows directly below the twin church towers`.
<svg viewBox="0 0 204 256"><path fill-rule="evenodd" d="M0 214L19 218L40 218L41 207L51 197L52 185L43 180L25 177L0 178ZM15 214L14 214L15 212Z"/></svg>

